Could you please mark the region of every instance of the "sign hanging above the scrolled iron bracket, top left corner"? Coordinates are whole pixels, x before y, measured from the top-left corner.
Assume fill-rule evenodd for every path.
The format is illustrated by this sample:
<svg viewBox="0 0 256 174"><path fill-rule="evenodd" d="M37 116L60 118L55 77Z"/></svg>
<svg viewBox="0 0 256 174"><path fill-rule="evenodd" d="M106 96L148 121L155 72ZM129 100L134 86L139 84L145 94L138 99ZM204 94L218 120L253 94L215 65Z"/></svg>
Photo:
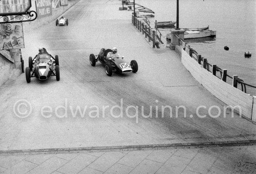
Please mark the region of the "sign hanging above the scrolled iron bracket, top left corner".
<svg viewBox="0 0 256 174"><path fill-rule="evenodd" d="M26 13L31 7L31 0L0 0L0 14Z"/></svg>

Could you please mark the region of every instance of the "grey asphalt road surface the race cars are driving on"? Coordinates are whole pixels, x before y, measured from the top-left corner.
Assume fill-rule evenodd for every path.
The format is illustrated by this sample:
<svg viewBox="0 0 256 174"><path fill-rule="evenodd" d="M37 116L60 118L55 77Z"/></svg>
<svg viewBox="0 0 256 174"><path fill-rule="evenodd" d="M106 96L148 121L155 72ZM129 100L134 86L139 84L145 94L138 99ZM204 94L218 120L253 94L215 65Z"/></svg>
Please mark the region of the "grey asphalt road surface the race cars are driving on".
<svg viewBox="0 0 256 174"><path fill-rule="evenodd" d="M59 55L61 80L27 84L23 73L0 87L0 150L256 139L254 123L223 110L175 51L152 49L119 7L118 0L81 0L63 14L68 26L53 21L25 31L25 67L44 47ZM138 72L108 77L101 63L91 66L91 53L112 47L135 59Z"/></svg>

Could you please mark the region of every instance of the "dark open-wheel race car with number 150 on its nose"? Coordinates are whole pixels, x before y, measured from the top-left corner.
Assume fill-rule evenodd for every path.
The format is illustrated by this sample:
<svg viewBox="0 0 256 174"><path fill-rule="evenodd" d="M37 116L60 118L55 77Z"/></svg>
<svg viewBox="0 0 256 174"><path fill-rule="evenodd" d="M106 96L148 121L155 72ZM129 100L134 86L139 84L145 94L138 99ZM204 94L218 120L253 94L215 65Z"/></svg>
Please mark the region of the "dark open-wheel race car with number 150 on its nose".
<svg viewBox="0 0 256 174"><path fill-rule="evenodd" d="M92 66L95 66L96 62L100 61L105 65L105 72L108 76L112 76L113 71L117 73L127 73L138 71L138 64L136 60L132 60L130 63L124 61L123 57L116 56L114 58L107 59L108 52L112 52L111 49L105 50L101 49L98 55L90 54L90 63Z"/></svg>

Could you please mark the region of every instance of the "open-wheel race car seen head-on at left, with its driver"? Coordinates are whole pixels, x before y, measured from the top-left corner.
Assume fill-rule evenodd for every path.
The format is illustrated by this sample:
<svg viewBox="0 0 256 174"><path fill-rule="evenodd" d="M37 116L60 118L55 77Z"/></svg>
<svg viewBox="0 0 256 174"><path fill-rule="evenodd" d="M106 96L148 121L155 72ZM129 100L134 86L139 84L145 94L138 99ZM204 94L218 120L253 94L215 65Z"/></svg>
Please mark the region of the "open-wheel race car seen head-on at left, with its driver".
<svg viewBox="0 0 256 174"><path fill-rule="evenodd" d="M31 77L36 77L39 80L47 80L50 76L56 76L56 80L60 80L59 57L55 58L50 55L45 48L39 49L33 59L28 58L28 67L26 67L26 80L30 83Z"/></svg>

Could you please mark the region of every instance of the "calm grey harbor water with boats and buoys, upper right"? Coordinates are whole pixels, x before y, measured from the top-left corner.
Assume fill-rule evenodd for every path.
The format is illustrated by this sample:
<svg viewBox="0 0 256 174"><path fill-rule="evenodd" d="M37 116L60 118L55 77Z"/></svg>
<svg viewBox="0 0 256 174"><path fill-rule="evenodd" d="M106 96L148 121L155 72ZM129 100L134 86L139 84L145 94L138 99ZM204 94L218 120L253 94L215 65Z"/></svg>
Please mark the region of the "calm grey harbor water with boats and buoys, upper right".
<svg viewBox="0 0 256 174"><path fill-rule="evenodd" d="M135 0L155 12L150 20L176 21L176 0ZM141 13L142 14L142 13ZM216 30L216 38L185 41L210 64L256 86L256 0L179 0L179 27ZM229 51L224 50L229 47ZM245 58L245 52L251 58ZM231 80L228 82L231 83ZM239 87L241 89L241 85ZM256 95L256 89L247 87Z"/></svg>

